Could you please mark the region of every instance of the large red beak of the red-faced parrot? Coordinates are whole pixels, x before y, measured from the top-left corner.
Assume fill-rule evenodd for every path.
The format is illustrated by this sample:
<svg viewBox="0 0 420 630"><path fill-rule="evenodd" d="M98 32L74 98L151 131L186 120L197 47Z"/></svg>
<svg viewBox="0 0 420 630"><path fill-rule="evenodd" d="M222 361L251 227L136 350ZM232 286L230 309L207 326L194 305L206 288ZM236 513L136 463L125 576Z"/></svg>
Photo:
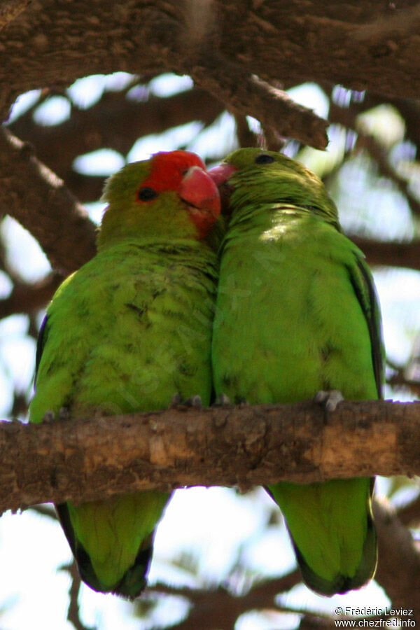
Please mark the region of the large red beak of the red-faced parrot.
<svg viewBox="0 0 420 630"><path fill-rule="evenodd" d="M204 238L221 214L221 197L216 183L204 169L193 166L181 181L179 195L190 207L191 218L200 237Z"/></svg>

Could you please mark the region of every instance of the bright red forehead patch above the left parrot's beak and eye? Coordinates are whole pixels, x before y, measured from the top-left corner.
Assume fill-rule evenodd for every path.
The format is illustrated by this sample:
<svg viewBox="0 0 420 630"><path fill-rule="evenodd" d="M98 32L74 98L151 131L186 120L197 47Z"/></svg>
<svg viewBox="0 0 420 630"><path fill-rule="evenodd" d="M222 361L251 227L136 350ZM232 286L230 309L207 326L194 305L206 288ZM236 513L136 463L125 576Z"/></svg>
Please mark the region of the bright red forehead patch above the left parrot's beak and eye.
<svg viewBox="0 0 420 630"><path fill-rule="evenodd" d="M162 190L177 190L186 171L193 166L206 168L198 155L189 151L156 153L151 160L151 173L141 183L141 188L148 186L158 193Z"/></svg>

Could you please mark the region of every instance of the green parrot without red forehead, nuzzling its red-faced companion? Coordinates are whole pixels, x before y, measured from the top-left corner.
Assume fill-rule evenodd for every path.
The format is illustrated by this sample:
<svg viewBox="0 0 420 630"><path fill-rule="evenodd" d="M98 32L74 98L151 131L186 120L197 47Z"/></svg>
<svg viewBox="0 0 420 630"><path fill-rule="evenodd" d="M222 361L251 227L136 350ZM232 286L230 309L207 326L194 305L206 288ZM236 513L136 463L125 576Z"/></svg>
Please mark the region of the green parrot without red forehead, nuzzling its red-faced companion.
<svg viewBox="0 0 420 630"><path fill-rule="evenodd" d="M214 319L216 396L250 404L293 403L325 391L380 398L383 346L372 276L342 234L321 180L258 148L235 151L210 174L228 194L230 212ZM345 593L373 577L372 489L368 478L268 486L304 582L317 593Z"/></svg>

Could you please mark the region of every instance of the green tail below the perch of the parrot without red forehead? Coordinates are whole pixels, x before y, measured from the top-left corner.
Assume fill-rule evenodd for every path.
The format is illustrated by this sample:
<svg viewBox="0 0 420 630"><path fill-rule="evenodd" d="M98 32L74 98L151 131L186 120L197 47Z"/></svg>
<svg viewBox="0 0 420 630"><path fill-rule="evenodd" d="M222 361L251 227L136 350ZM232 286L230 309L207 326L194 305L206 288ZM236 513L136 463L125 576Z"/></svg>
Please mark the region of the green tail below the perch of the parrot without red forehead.
<svg viewBox="0 0 420 630"><path fill-rule="evenodd" d="M286 519L303 580L317 593L343 594L374 576L372 488L373 480L360 478L267 489Z"/></svg>

